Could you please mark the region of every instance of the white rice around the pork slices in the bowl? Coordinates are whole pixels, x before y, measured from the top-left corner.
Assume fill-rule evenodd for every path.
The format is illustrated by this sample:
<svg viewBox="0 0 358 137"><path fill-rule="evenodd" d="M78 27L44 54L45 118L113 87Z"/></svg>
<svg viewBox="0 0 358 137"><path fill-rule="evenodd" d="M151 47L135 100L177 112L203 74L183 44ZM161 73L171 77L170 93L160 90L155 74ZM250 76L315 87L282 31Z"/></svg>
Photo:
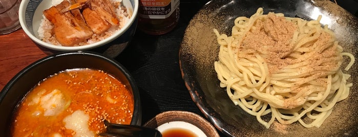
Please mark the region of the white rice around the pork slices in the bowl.
<svg viewBox="0 0 358 137"><path fill-rule="evenodd" d="M63 0L53 0L52 1L52 5L56 6L59 3L61 3ZM97 41L106 39L107 37L111 36L113 33L115 33L116 31L122 29L124 27L125 24L127 24L127 22L129 21L129 19L131 18L131 16L127 13L127 8L125 8L124 6L122 6L121 2L122 0L111 0L112 4L114 5L115 9L115 14L119 20L119 25L118 26L114 26L112 28L110 28L109 30L107 30L106 32L97 35L95 33L93 33L92 37L90 39L87 39L86 41L80 42L76 45L73 46L79 46L79 45L86 45L86 44L91 44L91 43L95 43ZM40 23L40 27L37 30L38 33L38 38L41 39L42 41L45 41L47 43L50 44L54 44L54 45L59 45L62 46L57 40L55 35L52 35L52 29L53 29L54 25L45 17L45 15L43 15L43 19L41 19L41 23Z"/></svg>

